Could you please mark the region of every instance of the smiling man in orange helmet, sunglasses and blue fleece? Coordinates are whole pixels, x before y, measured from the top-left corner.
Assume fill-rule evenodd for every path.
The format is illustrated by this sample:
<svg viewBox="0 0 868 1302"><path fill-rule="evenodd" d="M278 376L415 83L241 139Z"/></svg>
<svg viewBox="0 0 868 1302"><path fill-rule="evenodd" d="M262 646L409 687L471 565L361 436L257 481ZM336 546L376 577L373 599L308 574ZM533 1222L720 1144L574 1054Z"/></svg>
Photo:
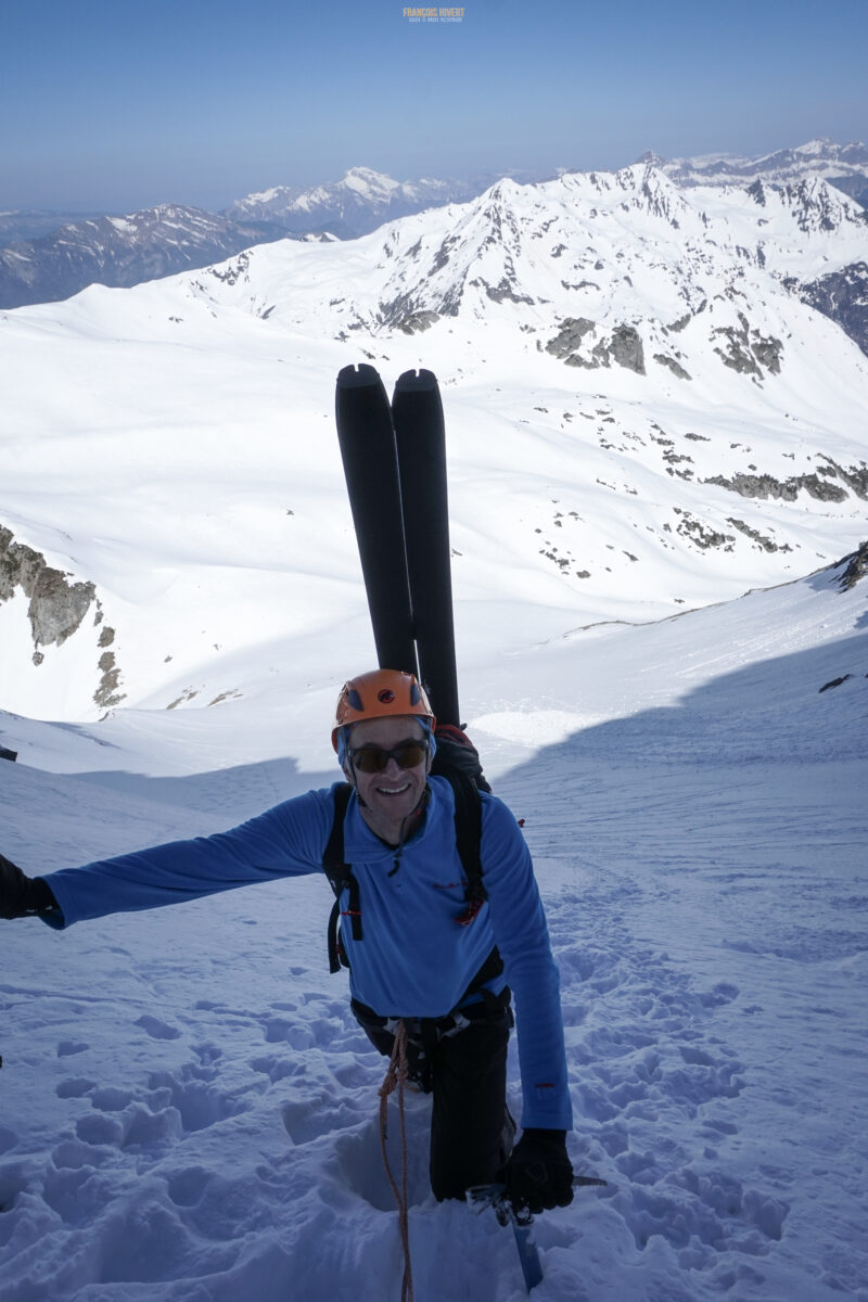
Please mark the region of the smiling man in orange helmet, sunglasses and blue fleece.
<svg viewBox="0 0 868 1302"><path fill-rule="evenodd" d="M332 742L350 784L342 818L342 788L334 784L229 832L47 878L30 879L0 855L0 917L39 915L66 927L316 872L328 866L338 836L340 949L353 1010L383 1052L390 1052L398 1021L406 1026L411 1074L433 1095L435 1195L463 1198L471 1185L498 1178L517 1207L566 1206L571 1111L558 976L513 815L491 794L475 797L484 891L468 900L455 793L445 777L431 775L436 720L413 674L377 669L350 680ZM509 987L523 1092L523 1134L511 1155Z"/></svg>

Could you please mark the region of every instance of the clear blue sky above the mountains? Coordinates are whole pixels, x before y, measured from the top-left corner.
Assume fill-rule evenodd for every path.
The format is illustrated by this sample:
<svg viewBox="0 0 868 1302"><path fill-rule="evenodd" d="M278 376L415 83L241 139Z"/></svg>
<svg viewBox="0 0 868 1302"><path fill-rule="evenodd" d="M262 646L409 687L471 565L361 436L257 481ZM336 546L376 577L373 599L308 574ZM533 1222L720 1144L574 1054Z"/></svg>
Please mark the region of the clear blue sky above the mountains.
<svg viewBox="0 0 868 1302"><path fill-rule="evenodd" d="M0 39L0 210L868 138L865 0L7 0Z"/></svg>

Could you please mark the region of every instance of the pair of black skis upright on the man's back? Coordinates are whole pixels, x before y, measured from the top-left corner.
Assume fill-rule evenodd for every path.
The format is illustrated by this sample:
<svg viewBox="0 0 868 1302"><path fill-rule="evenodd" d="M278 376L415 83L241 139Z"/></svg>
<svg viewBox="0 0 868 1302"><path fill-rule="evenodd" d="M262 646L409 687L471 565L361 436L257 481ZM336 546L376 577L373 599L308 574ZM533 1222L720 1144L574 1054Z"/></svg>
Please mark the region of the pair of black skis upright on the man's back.
<svg viewBox="0 0 868 1302"><path fill-rule="evenodd" d="M405 371L389 408L372 366L337 378L337 432L381 669L424 682L458 724L442 405L431 371Z"/></svg>

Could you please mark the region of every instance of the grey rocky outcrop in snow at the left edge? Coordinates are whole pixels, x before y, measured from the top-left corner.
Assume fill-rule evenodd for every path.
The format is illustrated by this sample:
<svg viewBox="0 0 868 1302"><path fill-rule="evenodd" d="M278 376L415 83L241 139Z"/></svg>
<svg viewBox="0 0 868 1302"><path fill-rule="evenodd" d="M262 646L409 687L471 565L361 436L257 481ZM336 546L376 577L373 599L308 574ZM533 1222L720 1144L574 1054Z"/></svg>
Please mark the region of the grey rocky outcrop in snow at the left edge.
<svg viewBox="0 0 868 1302"><path fill-rule="evenodd" d="M95 607L94 625L103 624L103 608L92 583L70 582L72 575L55 569L46 557L16 543L9 529L0 525L0 602L8 602L17 587L29 598L27 617L33 634L33 663L40 665L46 656L42 647L62 646ZM105 648L115 641L115 630L102 628L98 647ZM100 682L94 695L99 706L116 706L124 699L118 693L121 671L115 652L103 650L98 667Z"/></svg>

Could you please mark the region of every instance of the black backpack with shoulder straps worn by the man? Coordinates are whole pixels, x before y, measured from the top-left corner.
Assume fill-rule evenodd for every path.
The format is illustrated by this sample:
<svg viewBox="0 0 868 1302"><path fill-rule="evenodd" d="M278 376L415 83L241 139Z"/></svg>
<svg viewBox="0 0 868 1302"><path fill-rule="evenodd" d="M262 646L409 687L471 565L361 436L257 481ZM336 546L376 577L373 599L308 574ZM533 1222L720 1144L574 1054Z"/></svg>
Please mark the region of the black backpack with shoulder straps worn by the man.
<svg viewBox="0 0 868 1302"><path fill-rule="evenodd" d="M455 797L455 849L465 876L467 909L455 921L461 926L468 926L488 900L479 855L483 827L479 792L491 792L491 786L483 777L475 746L459 728L453 728L449 724L441 725L437 729L436 740L437 751L431 772L436 777L446 777ZM328 963L332 973L340 971L342 966L349 966L341 945L340 919L349 918L354 940L362 940L364 935L359 883L353 875L353 866L344 861L344 819L351 793L353 788L349 783L341 783L334 790L334 822L323 852L323 871L334 892L334 905L328 921ZM347 907L341 910L341 892L344 889L349 889L350 897ZM500 961L500 956L497 956L497 961ZM485 966L488 967L488 961ZM500 962L500 971L502 971L502 962ZM491 975L495 973L488 970L485 979Z"/></svg>

